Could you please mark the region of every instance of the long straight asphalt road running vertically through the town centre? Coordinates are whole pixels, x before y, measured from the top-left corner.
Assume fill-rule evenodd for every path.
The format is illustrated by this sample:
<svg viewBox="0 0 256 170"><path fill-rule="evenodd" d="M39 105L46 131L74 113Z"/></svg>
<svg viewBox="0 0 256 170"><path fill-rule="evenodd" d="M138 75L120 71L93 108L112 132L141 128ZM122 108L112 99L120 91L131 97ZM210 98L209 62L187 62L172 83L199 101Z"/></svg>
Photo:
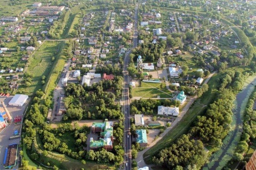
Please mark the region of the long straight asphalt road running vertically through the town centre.
<svg viewBox="0 0 256 170"><path fill-rule="evenodd" d="M135 48L138 43L138 4L135 7L135 17L134 17L134 25L133 25L133 47ZM127 67L129 65L129 55L131 50L126 53L124 57L124 89L123 89L123 109L124 109L124 169L130 170L132 169L132 136L129 135L130 129L130 100L129 100L129 75L127 71Z"/></svg>

